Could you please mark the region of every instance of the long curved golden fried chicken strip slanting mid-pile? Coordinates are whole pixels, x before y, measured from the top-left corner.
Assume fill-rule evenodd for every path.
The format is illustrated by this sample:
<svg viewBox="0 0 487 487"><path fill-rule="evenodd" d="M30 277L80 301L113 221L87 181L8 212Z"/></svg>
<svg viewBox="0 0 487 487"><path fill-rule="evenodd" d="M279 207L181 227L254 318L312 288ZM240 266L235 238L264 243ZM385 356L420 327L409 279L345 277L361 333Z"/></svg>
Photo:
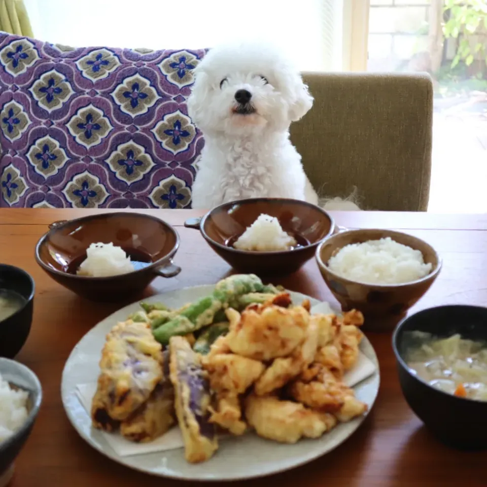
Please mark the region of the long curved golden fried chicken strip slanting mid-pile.
<svg viewBox="0 0 487 487"><path fill-rule="evenodd" d="M258 396L281 389L290 380L299 375L315 358L318 346L318 325L309 321L306 337L297 347L291 357L276 358L268 369L261 375L255 384L255 393Z"/></svg>

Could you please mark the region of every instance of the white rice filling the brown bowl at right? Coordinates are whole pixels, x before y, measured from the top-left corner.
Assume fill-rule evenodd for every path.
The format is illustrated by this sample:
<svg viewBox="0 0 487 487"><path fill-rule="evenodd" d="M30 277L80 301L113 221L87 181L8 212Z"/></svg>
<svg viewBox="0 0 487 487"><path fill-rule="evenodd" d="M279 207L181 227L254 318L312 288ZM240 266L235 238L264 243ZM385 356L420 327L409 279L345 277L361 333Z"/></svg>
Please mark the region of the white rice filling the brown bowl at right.
<svg viewBox="0 0 487 487"><path fill-rule="evenodd" d="M401 284L431 272L423 254L391 237L351 243L330 258L328 267L346 279L367 284Z"/></svg>

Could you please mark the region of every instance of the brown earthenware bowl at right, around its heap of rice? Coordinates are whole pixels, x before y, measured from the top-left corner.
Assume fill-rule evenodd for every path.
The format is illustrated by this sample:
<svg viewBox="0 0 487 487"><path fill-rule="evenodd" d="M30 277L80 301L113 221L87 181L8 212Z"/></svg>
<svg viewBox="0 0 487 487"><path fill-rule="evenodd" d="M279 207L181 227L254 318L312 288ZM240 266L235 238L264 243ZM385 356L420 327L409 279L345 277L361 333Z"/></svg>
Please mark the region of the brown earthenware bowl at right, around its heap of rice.
<svg viewBox="0 0 487 487"><path fill-rule="evenodd" d="M346 279L328 267L330 257L350 243L391 237L398 243L419 250L424 261L432 264L431 272L417 281L404 284L365 284ZM316 251L321 274L343 311L359 309L364 314L364 330L392 331L434 283L441 269L441 259L428 243L420 238L393 230L346 230L325 240Z"/></svg>

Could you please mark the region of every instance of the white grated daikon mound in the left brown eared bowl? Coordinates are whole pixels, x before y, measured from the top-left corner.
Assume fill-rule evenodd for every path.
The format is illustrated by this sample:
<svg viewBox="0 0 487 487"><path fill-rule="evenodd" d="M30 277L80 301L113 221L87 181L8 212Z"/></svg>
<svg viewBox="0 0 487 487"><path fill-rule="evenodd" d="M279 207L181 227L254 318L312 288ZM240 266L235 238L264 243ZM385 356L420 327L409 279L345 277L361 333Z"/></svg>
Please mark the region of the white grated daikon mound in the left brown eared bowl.
<svg viewBox="0 0 487 487"><path fill-rule="evenodd" d="M134 270L130 257L121 247L110 243L92 243L86 250L86 259L77 270L78 275L107 277Z"/></svg>

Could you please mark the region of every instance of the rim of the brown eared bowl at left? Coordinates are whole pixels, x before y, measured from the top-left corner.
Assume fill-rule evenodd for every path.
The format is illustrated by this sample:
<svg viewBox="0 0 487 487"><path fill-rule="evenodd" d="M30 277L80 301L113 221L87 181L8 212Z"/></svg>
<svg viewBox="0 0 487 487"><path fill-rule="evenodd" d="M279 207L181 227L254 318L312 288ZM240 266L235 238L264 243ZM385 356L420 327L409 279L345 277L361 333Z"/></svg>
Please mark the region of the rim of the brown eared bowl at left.
<svg viewBox="0 0 487 487"><path fill-rule="evenodd" d="M152 262L150 265L143 267L142 269L136 269L132 270L130 272L125 272L123 274L116 274L116 275L107 275L107 276L91 276L91 275L78 275L78 274L70 274L69 272L63 272L58 269L55 269L54 267L51 267L43 262L39 255L39 250L42 245L44 245L45 241L53 235L56 231L64 228L66 225L70 225L72 223L77 223L77 222L85 222L87 220L94 220L100 217L135 217L135 218L148 218L149 220L154 220L156 222L162 223L169 229L176 237L176 243L174 247L170 250L168 254L166 254L164 257L161 257L160 259L157 259L155 262ZM80 217L80 218L74 218L73 220L66 220L65 222L59 223L59 225L56 225L55 227L51 228L48 232L46 232L37 242L36 245L36 251L35 251L35 257L36 257L36 262L47 272L60 275L63 277L67 277L68 279L78 279L80 281L90 281L95 279L96 281L110 281L113 279L120 279L129 275L134 275L134 274L143 274L147 273L149 270L155 269L157 267L160 267L161 264L166 262L167 260L172 259L176 252L179 249L180 245L180 236L179 233L176 231L176 229L170 225L169 223L165 222L164 220L161 220L160 218L157 218L153 215L147 215L144 213L137 213L137 212L115 212L115 213L101 213L98 215L87 215L86 217Z"/></svg>

